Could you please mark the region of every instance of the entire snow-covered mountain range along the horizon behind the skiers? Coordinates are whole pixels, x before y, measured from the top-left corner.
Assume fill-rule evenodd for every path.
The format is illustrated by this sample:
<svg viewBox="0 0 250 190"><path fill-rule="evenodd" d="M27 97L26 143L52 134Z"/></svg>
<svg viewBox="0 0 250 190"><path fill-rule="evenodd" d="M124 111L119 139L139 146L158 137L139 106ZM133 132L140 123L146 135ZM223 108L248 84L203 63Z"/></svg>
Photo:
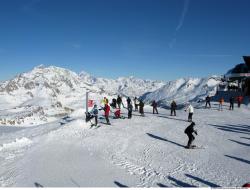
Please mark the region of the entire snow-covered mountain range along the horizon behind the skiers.
<svg viewBox="0 0 250 190"><path fill-rule="evenodd" d="M216 76L170 82L135 77L114 80L41 65L0 83L0 124L34 125L53 121L73 110L84 108L86 91L90 92L90 98L97 104L104 96L112 99L119 94L131 98L137 96L146 103L156 100L160 106L168 107L172 100L185 104L204 99L216 92L220 81L221 78Z"/></svg>

